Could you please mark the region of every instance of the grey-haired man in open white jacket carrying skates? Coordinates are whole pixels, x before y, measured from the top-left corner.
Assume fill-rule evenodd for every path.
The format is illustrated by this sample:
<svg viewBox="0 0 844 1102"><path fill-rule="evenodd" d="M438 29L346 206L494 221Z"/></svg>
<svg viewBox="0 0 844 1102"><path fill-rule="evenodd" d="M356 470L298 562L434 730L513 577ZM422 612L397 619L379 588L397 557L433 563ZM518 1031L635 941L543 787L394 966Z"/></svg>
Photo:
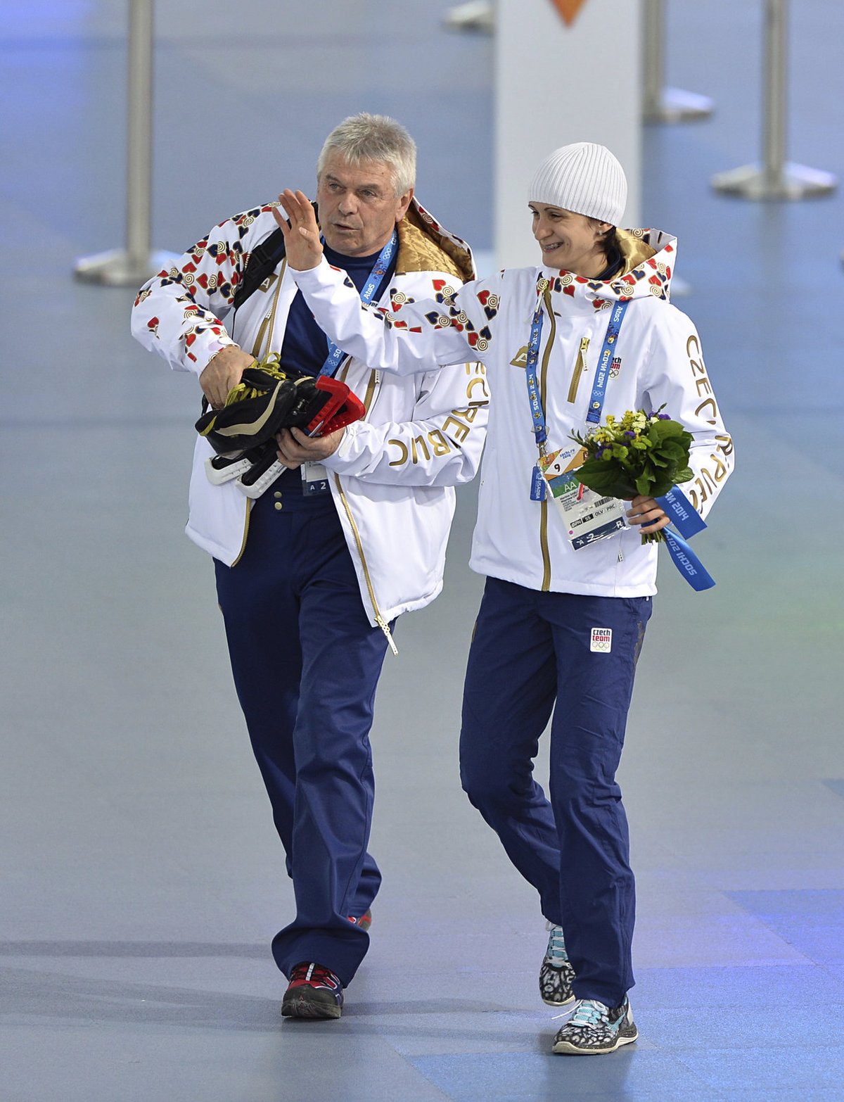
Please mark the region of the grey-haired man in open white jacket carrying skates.
<svg viewBox="0 0 844 1102"><path fill-rule="evenodd" d="M393 309L473 274L466 246L416 203L414 179L412 140L382 116L346 119L317 162L326 256L356 293ZM324 436L282 429L286 469L253 501L209 480L214 453L198 439L187 523L215 560L235 684L293 879L296 915L272 944L290 980L282 1013L332 1018L367 951L380 884L367 853L378 676L396 617L442 587L453 487L476 473L488 392L477 364L440 371L432 359L431 374L398 379L340 358L283 259L232 312L250 255L275 231L274 206L221 223L150 280L132 332L194 371L215 408L269 352L313 375L339 361L337 378L366 407Z"/></svg>

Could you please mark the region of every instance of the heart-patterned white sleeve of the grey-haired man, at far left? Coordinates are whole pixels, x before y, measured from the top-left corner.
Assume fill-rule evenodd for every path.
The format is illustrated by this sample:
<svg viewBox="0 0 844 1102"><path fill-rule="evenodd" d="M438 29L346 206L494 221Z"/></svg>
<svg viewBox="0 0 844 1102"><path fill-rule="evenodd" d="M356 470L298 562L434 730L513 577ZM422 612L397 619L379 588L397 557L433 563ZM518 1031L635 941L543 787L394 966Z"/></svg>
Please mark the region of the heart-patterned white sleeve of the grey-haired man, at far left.
<svg viewBox="0 0 844 1102"><path fill-rule="evenodd" d="M132 306L132 336L174 370L202 375L212 356L234 343L223 318L249 251L274 228L271 210L272 205L256 207L228 218L170 270L148 280Z"/></svg>

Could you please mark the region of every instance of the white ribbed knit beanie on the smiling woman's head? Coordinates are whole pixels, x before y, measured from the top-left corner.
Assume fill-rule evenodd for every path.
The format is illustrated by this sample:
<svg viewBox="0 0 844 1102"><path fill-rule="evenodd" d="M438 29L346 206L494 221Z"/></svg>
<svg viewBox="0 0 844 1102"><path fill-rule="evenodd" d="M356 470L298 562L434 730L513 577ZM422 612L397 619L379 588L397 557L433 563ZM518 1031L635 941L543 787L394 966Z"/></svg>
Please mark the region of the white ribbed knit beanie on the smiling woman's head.
<svg viewBox="0 0 844 1102"><path fill-rule="evenodd" d="M627 203L627 179L605 145L578 141L545 158L528 198L617 226Z"/></svg>

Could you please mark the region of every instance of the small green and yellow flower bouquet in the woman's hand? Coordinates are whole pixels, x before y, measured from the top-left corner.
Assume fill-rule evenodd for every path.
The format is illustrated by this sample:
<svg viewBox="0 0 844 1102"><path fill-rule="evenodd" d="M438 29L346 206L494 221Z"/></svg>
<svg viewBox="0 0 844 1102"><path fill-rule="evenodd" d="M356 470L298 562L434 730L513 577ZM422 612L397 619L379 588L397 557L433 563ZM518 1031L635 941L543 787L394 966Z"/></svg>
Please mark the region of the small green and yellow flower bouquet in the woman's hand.
<svg viewBox="0 0 844 1102"><path fill-rule="evenodd" d="M629 500L641 494L661 497L678 483L689 482L692 434L663 413L627 410L619 420L608 413L603 425L572 440L587 453L574 472L582 485L604 497ZM661 531L642 533L642 543L664 540Z"/></svg>

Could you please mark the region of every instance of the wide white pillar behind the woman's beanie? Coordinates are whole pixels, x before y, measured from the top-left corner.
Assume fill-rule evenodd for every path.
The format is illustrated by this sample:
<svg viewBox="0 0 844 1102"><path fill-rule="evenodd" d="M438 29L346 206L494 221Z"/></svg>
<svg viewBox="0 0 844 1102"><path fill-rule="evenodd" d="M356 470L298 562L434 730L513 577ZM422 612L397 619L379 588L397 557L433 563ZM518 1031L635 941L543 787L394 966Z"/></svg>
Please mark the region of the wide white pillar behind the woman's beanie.
<svg viewBox="0 0 844 1102"><path fill-rule="evenodd" d="M625 226L641 206L640 6L584 0L566 25L553 0L498 0L495 250L498 267L538 264L528 185L574 141L607 145L627 174Z"/></svg>

